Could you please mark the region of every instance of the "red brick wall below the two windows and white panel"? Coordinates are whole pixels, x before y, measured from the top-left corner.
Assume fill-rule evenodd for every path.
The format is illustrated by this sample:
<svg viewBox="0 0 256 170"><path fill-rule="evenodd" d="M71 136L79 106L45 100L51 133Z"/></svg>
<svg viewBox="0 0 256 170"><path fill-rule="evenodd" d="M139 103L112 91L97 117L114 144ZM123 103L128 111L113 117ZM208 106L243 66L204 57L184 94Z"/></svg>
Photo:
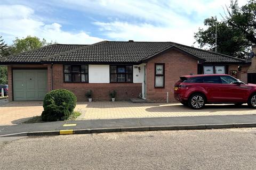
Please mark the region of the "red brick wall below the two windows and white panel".
<svg viewBox="0 0 256 170"><path fill-rule="evenodd" d="M92 90L92 98L97 100L110 100L109 91L116 90L117 100L137 98L141 93L141 83L64 83L63 65L53 65L53 89L67 89L77 96L78 101L87 100L85 93Z"/></svg>

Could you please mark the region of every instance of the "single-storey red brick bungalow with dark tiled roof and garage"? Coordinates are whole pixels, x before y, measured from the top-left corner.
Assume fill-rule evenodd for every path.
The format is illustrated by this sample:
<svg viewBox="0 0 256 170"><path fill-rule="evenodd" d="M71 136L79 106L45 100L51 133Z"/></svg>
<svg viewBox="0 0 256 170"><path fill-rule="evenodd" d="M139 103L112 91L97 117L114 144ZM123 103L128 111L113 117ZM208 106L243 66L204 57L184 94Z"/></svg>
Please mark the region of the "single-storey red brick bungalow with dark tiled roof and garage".
<svg viewBox="0 0 256 170"><path fill-rule="evenodd" d="M255 49L255 48L254 48ZM253 58L254 60L255 58ZM67 89L85 101L142 97L169 101L180 75L226 73L247 82L251 61L172 42L102 41L92 45L53 44L0 58L7 65L9 100L43 100L46 92ZM256 66L252 73L256 73Z"/></svg>

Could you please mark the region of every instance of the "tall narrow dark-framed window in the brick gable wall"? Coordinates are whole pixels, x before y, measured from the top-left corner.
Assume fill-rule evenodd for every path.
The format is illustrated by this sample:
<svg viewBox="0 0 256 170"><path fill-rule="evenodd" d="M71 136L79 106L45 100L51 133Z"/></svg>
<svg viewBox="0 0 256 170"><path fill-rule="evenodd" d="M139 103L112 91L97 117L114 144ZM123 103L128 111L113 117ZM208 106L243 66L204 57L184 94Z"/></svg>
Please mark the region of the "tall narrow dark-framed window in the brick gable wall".
<svg viewBox="0 0 256 170"><path fill-rule="evenodd" d="M155 64L155 88L164 88L164 64Z"/></svg>

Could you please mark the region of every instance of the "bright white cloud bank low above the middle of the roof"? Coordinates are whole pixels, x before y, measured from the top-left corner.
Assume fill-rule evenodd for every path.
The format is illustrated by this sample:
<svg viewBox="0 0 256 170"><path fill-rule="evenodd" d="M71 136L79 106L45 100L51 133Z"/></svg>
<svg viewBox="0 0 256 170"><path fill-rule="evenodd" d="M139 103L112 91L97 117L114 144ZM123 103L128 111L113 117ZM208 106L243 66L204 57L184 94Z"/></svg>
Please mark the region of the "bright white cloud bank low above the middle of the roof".
<svg viewBox="0 0 256 170"><path fill-rule="evenodd" d="M151 24L129 24L127 22L95 22L105 34L116 40L135 40L135 41L173 41L186 45L194 43L194 32L196 28L166 28L156 27ZM177 33L179 32L179 33Z"/></svg>

